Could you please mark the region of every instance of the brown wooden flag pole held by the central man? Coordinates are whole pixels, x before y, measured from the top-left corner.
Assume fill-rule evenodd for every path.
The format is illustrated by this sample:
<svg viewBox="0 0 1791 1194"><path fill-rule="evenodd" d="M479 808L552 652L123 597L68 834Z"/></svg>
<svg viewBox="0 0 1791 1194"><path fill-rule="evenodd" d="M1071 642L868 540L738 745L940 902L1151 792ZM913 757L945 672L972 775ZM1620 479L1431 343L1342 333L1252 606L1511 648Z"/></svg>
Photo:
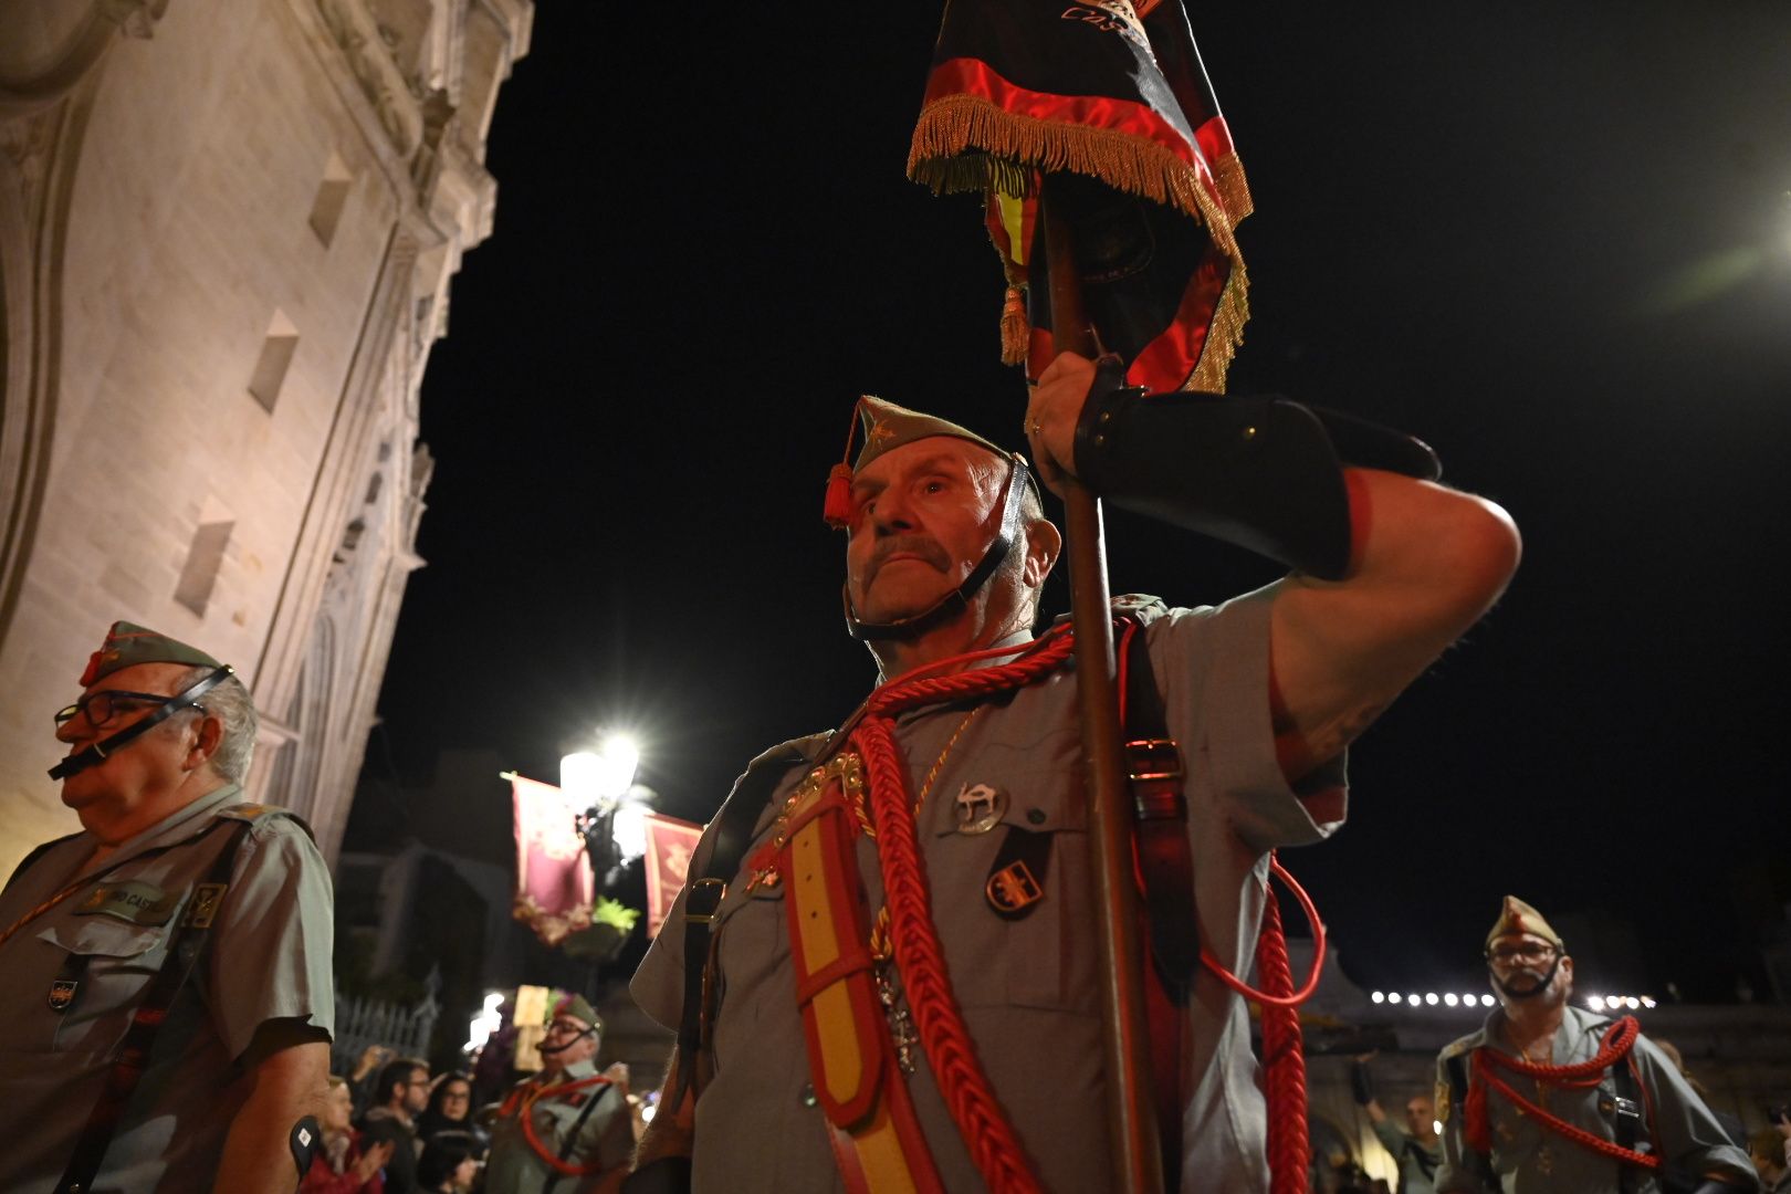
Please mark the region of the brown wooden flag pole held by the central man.
<svg viewBox="0 0 1791 1194"><path fill-rule="evenodd" d="M1096 356L1094 333L1082 311L1082 279L1066 220L1044 220L1051 277L1051 338L1058 349ZM1164 1189L1157 1115L1150 1090L1150 1035L1144 1019L1144 954L1139 942L1132 865L1132 816L1127 761L1119 741L1119 687L1114 662L1107 544L1101 505L1075 478L1064 478L1064 532L1069 555L1069 612L1076 632L1076 696L1094 854L1094 911L1101 947L1101 1010L1107 1062L1107 1135L1112 1140L1114 1190L1159 1194ZM1162 1058L1161 1065L1178 1065ZM1178 1180L1180 1174L1175 1174Z"/></svg>

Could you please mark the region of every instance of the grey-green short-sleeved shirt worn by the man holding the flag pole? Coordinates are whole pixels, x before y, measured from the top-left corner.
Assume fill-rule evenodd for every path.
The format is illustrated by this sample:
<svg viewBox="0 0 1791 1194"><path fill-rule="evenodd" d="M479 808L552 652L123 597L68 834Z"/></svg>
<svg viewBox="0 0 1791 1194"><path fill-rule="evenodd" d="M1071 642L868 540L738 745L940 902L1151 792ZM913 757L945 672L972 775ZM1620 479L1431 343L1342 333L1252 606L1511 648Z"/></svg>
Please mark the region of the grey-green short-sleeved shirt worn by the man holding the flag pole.
<svg viewBox="0 0 1791 1194"><path fill-rule="evenodd" d="M1146 609L1148 648L1170 732L1187 768L1184 793L1193 836L1202 940L1234 972L1247 974L1263 911L1264 854L1316 841L1343 818L1341 789L1298 798L1275 763L1268 700L1268 623L1273 589L1220 609ZM964 704L897 720L896 739L919 797L938 766L917 818L933 918L951 985L976 1040L978 1060L1048 1190L1110 1185L1101 1067L1098 949L1091 908L1087 813L1075 671L999 693L965 723ZM946 750L962 727L962 738ZM820 739L792 743L813 757ZM804 768L790 750L761 755L788 766L756 843ZM944 761L940 757L944 755ZM976 788L998 793L999 823L962 832L955 806ZM711 827L713 829L713 827ZM985 895L1010 829L1050 834L1044 899L1005 920ZM691 875L713 850L698 845ZM750 850L749 850L750 857ZM876 843L858 838L858 872L870 909L883 904ZM715 1079L697 1103L693 1183L698 1194L831 1194L844 1189L822 1112L811 1106L808 1053L797 1011L783 888L747 893L729 883L718 909L720 1013ZM675 1028L684 990L681 895L634 976L636 1002ZM1189 1008L1186 1058L1191 1096L1184 1113L1184 1189L1252 1194L1268 1183L1264 1110L1250 1054L1245 1004L1202 972ZM953 1194L981 1190L926 1058L908 1078L917 1119Z"/></svg>

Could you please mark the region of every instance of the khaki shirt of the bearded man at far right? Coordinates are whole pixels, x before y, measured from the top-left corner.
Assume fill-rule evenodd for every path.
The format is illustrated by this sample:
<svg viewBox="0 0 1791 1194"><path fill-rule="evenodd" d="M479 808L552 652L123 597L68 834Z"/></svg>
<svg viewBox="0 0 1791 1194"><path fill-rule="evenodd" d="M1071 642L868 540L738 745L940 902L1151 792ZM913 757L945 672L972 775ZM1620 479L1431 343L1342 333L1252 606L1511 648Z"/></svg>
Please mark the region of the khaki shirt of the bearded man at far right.
<svg viewBox="0 0 1791 1194"><path fill-rule="evenodd" d="M1490 1044L1510 1056L1519 1056L1497 1029L1504 1013L1494 1010L1478 1033L1456 1040L1436 1060L1436 1106L1444 1121L1444 1165L1436 1171L1438 1194L1617 1194L1619 1165L1614 1158L1542 1128L1533 1115L1521 1113L1497 1090L1487 1090L1487 1115L1492 1128L1492 1174L1485 1174L1479 1156L1469 1151L1461 1135L1461 1097L1456 1096L1451 1076L1451 1058L1461 1058L1463 1076L1472 1083L1474 1049ZM1612 1020L1569 1004L1560 1029L1555 1033L1551 1065L1576 1065L1598 1054L1605 1029ZM1641 1070L1641 1085L1632 1097L1642 1099L1651 1112L1651 1122L1637 1131L1637 1146L1651 1137L1660 1142L1667 1165L1698 1178L1723 1171L1725 1180L1741 1190L1757 1190L1759 1178L1746 1151L1735 1147L1723 1126L1691 1088L1678 1067L1667 1060L1655 1042L1637 1036L1630 1049ZM1499 1070L1499 1078L1549 1115L1581 1128L1601 1140L1615 1140L1617 1088L1610 1070L1596 1087L1540 1088L1533 1078ZM1463 1092L1465 1097L1465 1092ZM1660 1181L1639 1174L1633 1194L1658 1194Z"/></svg>

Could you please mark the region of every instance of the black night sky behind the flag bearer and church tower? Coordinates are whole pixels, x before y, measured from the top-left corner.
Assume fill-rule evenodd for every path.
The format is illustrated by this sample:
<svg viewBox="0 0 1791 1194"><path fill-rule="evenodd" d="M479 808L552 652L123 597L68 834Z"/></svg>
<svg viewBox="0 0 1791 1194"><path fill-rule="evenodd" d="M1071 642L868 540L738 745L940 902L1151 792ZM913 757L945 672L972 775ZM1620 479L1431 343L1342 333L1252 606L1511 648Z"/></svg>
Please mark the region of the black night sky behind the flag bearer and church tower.
<svg viewBox="0 0 1791 1194"><path fill-rule="evenodd" d="M1732 997L1791 899L1791 9L1564 7L1191 13L1257 208L1230 388L1422 435L1526 539L1286 861L1370 986L1476 981L1515 891L1633 922L1610 983ZM706 820L863 696L820 523L853 399L1010 440L1023 410L974 200L903 177L937 16L537 5L423 385L430 564L371 775L494 746L552 780L630 723ZM1275 575L1109 521L1116 591Z"/></svg>

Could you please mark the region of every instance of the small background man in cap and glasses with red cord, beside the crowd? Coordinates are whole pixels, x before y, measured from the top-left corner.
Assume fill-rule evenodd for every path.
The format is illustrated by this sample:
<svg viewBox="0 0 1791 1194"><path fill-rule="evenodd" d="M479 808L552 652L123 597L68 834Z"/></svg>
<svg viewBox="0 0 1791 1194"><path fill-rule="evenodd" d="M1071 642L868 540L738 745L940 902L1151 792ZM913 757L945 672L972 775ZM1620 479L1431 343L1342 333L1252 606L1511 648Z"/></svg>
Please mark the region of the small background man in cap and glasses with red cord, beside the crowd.
<svg viewBox="0 0 1791 1194"><path fill-rule="evenodd" d="M634 1115L627 1090L596 1072L604 1022L584 999L553 1008L541 1072L498 1106L485 1194L611 1194L629 1176Z"/></svg>

